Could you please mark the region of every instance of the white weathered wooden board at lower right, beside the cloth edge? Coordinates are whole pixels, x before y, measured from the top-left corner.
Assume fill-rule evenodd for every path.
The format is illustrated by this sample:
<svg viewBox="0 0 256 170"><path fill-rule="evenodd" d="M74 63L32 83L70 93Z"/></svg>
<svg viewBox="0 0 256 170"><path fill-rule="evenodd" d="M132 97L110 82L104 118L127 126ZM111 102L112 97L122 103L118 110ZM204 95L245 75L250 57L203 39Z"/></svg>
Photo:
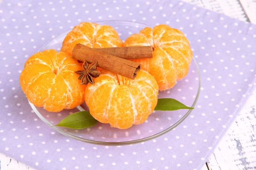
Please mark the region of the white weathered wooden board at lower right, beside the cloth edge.
<svg viewBox="0 0 256 170"><path fill-rule="evenodd" d="M210 170L256 170L256 90L207 163Z"/></svg>

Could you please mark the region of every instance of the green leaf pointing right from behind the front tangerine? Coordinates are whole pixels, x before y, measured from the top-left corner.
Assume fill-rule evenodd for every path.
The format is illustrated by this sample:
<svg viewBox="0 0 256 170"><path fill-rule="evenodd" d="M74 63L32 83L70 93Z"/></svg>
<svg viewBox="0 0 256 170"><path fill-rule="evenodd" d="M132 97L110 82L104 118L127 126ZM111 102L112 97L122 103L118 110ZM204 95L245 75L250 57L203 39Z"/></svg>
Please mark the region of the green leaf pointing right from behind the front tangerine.
<svg viewBox="0 0 256 170"><path fill-rule="evenodd" d="M163 98L163 99L158 99L157 106L155 107L154 110L155 111L176 111L179 109L194 109L194 108L187 107L186 105L172 98Z"/></svg>

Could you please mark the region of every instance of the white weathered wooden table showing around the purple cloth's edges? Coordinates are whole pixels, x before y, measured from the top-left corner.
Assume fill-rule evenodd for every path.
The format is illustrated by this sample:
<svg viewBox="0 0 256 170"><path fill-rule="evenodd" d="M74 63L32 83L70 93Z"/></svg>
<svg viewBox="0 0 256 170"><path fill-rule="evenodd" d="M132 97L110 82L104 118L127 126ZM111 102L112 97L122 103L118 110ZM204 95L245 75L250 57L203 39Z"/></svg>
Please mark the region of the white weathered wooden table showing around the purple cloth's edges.
<svg viewBox="0 0 256 170"><path fill-rule="evenodd" d="M256 0L183 1L256 24ZM0 170L35 169L0 153ZM202 170L256 170L256 90Z"/></svg>

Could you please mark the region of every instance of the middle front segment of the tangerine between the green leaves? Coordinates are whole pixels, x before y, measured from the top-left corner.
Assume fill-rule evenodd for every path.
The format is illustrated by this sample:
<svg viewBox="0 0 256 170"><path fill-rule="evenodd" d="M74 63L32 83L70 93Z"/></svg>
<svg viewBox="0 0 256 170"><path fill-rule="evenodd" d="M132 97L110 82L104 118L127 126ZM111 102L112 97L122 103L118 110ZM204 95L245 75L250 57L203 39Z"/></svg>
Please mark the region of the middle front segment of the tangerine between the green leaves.
<svg viewBox="0 0 256 170"><path fill-rule="evenodd" d="M118 85L113 91L108 108L108 121L113 127L127 129L134 124L137 110L126 85Z"/></svg>

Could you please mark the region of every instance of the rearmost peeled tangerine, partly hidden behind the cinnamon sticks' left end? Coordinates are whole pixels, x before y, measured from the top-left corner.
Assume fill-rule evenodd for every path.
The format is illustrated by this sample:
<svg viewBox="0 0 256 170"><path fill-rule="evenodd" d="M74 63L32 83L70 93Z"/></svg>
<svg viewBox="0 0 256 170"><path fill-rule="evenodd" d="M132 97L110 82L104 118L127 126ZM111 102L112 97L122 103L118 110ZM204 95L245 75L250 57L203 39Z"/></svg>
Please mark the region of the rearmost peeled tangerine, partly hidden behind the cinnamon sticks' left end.
<svg viewBox="0 0 256 170"><path fill-rule="evenodd" d="M113 27L88 22L78 24L67 34L61 51L71 56L74 46L79 43L91 48L123 46L122 40L119 39Z"/></svg>

